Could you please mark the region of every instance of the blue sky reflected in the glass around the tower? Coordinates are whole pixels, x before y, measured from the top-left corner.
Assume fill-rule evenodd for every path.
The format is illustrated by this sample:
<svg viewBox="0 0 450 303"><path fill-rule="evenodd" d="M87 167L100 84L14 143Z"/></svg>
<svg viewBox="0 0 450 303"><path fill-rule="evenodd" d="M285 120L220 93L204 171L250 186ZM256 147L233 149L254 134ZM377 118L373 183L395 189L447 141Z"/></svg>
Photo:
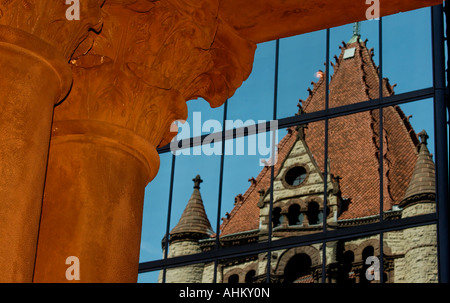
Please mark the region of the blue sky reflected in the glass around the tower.
<svg viewBox="0 0 450 303"><path fill-rule="evenodd" d="M396 83L397 94L432 86L430 9L420 9L383 18L383 76ZM339 56L342 41L352 36L353 25L331 29L330 56ZM374 48L378 64L378 21L361 24L362 39L369 39L368 48ZM326 32L318 31L280 40L279 87L277 118L293 116L298 100L308 97L307 88L317 81L315 73L325 70ZM275 70L275 41L258 45L253 71L249 79L228 102L228 119L269 121L273 116ZM332 71L332 69L331 69ZM361 100L363 101L363 100ZM423 100L401 106L416 132L425 129L429 149L434 151L433 104ZM188 123L192 125L194 112L201 112L202 121L222 121L223 106L211 109L202 99L188 102ZM279 131L278 139L286 134ZM172 154L160 155L161 168L147 187L140 262L162 258L161 240L166 230ZM225 156L222 210L220 216L233 208L234 198L249 187L248 179L257 177L261 170L259 155ZM177 156L174 176L171 228L178 222L193 191L192 179L200 174L204 182L201 194L211 225L216 229L220 156ZM158 272L139 275L139 282L156 282Z"/></svg>

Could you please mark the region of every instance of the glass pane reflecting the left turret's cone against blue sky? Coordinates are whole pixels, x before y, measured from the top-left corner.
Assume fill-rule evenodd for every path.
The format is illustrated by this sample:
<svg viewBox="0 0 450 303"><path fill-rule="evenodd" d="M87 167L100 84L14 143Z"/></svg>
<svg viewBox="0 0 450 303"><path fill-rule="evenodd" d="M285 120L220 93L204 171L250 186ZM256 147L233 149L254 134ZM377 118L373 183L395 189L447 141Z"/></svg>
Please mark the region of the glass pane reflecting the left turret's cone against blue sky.
<svg viewBox="0 0 450 303"><path fill-rule="evenodd" d="M211 145L220 151L221 144ZM176 156L169 258L201 253L200 242L216 232L220 154L207 154L205 148L186 148Z"/></svg>

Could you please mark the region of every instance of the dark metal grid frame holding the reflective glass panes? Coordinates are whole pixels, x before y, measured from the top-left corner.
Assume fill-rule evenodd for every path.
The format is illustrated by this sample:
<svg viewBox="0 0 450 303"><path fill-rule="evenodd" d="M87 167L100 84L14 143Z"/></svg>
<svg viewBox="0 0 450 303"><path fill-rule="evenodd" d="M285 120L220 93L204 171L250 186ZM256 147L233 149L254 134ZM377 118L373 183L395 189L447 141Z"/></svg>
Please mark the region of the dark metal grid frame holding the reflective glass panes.
<svg viewBox="0 0 450 303"><path fill-rule="evenodd" d="M446 14L450 12L449 5L445 5ZM327 51L326 51L326 106L324 110L305 113L298 116L292 116L288 118L278 119L278 128L283 129L291 126L296 126L299 124L305 124L316 121L325 122L325 157L327 159L328 153L328 121L331 118L341 117L345 115L355 114L368 110L379 110L380 117L382 117L383 109L387 106L392 106L396 104L408 103L417 100L423 100L428 98L434 98L434 123L435 123L435 164L436 164L436 201L437 201L437 211L433 214L420 215L416 217L409 217L399 220L383 220L383 178L380 177L380 216L377 223L371 223L362 226L347 227L345 229L338 230L327 230L326 220L323 220L323 231L321 233L309 234L303 236L283 238L279 240L272 240L272 216L269 216L269 235L266 242L259 242L253 244L247 244L235 247L221 247L220 246L220 215L221 215L221 204L222 204L222 186L223 186L223 167L224 167L224 149L225 144L222 144L222 156L220 162L220 181L219 181L219 196L218 196L218 210L217 210L217 230L215 239L215 248L208 252L203 252L195 255L180 256L174 258L168 258L168 242L165 243L164 258L161 260L143 262L139 264L139 273L145 273L156 270L163 270L163 282L165 282L165 274L167 268L173 268L178 266L185 266L189 264L203 263L203 262L214 262L214 280L217 277L217 267L218 262L224 258L233 258L240 256L247 256L257 253L268 253L267 260L270 260L271 252L278 249L287 249L298 247L302 245L309 245L315 243L322 243L323 247L323 260L322 260L322 283L326 282L326 243L329 241L350 239L355 237L372 236L379 235L380 237L380 252L383 251L383 233L402 230L411 227L425 226L430 224L437 224L437 243L438 243L438 273L439 281L448 283L449 282L449 272L450 272L450 257L449 257L449 207L448 207L448 134L447 134L447 111L448 108L448 87L446 87L446 70L445 70L445 36L444 36L444 6L437 5L431 7L431 22L432 22L432 47L433 47L433 87L420 89L416 91L411 91L399 95L383 97L382 95L382 85L380 85L379 98L364 102L359 102L355 104L350 104L346 106L341 106L337 108L328 107L329 98L329 51L330 51L330 30L327 29L326 40L327 40ZM450 32L449 20L447 16L447 33ZM447 39L447 43L449 40ZM450 44L449 44L450 45ZM380 66L380 83L382 83L382 18L379 21L379 66ZM448 51L448 49L447 49ZM275 81L274 81L274 102L273 102L273 119L277 120L277 98L278 98L278 60L279 60L279 40L276 41L276 54L275 54ZM448 74L450 75L450 59L448 61ZM450 77L449 77L450 79ZM227 104L224 107L223 114L223 125L227 119ZM379 131L380 134L383 133L383 119L380 119ZM224 127L225 129L225 127ZM256 130L257 129L257 130ZM271 131L269 123L257 125L256 128L246 128L232 129L219 133L212 134L214 136L214 142L224 142L229 139L234 139L240 136L248 136L255 134L257 131L261 132L264 129L266 131ZM190 139L185 139L179 141L178 146L189 148L201 145L203 140L206 138L205 135L201 137L195 137ZM273 136L275 138L275 136ZM380 140L380 149L383 148L382 141ZM211 142L211 141L209 141ZM275 146L275 144L272 144ZM166 146L158 150L159 153L170 152L170 147ZM172 157L172 167L171 167L171 180L170 180L170 193L169 193L169 203L168 203L168 218L166 226L166 239L169 235L170 228L170 217L172 208L172 194L173 194L173 179L174 179L174 169L175 169L175 159ZM326 160L325 160L326 161ZM380 176L383 174L383 159L380 157ZM325 172L327 174L327 165L324 165ZM274 167L271 167L271 187L270 187L270 213L273 208L273 180L274 180ZM326 193L327 182L324 181ZM326 194L324 194L326 195ZM324 197L324 209L326 209L326 196ZM266 271L266 282L270 282L270 262L267 262ZM383 255L380 253L380 269L383 269ZM383 275L380 275L383 279ZM380 282L383 282L381 280Z"/></svg>

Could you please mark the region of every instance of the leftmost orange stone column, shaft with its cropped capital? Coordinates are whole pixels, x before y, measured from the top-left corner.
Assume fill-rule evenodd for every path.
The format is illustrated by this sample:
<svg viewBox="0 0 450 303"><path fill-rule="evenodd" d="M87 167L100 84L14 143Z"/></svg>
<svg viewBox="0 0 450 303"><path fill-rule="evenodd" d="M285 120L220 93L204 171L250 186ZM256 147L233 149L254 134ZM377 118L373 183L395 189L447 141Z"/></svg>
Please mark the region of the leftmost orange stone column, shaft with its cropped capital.
<svg viewBox="0 0 450 303"><path fill-rule="evenodd" d="M33 279L53 108L103 2L0 1L0 282ZM67 20L71 6L80 20Z"/></svg>

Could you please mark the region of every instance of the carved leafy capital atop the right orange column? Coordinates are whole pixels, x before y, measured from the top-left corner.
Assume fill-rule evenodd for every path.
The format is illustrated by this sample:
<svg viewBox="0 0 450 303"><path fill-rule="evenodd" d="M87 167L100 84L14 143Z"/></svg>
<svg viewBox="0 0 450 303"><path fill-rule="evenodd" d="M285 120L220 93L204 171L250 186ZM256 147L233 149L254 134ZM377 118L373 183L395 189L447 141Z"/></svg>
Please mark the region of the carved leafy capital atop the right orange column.
<svg viewBox="0 0 450 303"><path fill-rule="evenodd" d="M186 101L218 107L251 72L256 45L218 10L218 0L106 1L102 32L71 61L74 87L56 123L103 121L168 144L171 124L187 118Z"/></svg>

